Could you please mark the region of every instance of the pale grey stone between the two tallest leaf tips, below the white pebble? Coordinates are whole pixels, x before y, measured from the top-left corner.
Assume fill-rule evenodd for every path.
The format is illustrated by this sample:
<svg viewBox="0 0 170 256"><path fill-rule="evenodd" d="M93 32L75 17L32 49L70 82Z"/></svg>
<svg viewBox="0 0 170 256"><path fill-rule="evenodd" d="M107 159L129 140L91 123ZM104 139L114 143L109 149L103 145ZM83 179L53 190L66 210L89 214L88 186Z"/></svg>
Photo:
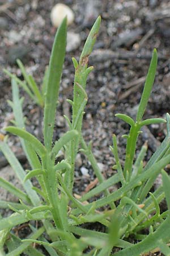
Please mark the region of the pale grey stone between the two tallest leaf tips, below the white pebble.
<svg viewBox="0 0 170 256"><path fill-rule="evenodd" d="M80 43L81 39L79 34L75 34L74 32L67 32L67 52L71 52L77 49L80 46Z"/></svg>

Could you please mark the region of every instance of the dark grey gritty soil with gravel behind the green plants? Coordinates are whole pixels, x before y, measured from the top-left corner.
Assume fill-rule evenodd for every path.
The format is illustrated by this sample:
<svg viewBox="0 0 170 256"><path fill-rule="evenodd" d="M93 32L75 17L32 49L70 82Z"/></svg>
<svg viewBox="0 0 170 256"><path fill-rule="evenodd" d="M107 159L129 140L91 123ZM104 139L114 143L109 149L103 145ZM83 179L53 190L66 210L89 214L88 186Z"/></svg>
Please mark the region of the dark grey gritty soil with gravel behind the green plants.
<svg viewBox="0 0 170 256"><path fill-rule="evenodd" d="M6 68L22 78L15 62L19 58L27 72L41 86L56 33L56 28L50 22L50 11L58 2L0 0L0 129L9 125L13 118L7 104L7 100L11 100L10 79L2 69ZM79 59L88 32L100 14L100 32L89 63L94 65L94 71L87 82L88 104L84 115L83 135L87 142L92 141L97 162L102 167L104 176L109 177L114 172L114 158L109 150L112 134L117 135L123 163L126 140L121 136L129 130L129 126L116 118L115 114L129 114L135 118L154 48L159 55L158 69L145 118L165 117L165 113L170 110L170 3L168 0L60 2L74 11L75 20L68 30L80 35L80 45L76 49L73 46L73 50L66 53L54 139L58 139L67 129L63 114L71 115L70 106L66 103L66 98L71 99L73 93L74 67L71 57ZM22 90L20 92L25 97L23 109L27 117L27 129L42 141L40 110ZM1 130L1 133L4 132ZM165 133L164 125L147 127L139 137L137 153L148 140L146 160L150 158ZM10 135L9 143L16 154L22 154L18 138ZM2 160L4 161L3 158ZM88 170L86 175L83 175L82 167ZM78 194L95 179L90 163L83 154L79 155L75 177L74 191Z"/></svg>

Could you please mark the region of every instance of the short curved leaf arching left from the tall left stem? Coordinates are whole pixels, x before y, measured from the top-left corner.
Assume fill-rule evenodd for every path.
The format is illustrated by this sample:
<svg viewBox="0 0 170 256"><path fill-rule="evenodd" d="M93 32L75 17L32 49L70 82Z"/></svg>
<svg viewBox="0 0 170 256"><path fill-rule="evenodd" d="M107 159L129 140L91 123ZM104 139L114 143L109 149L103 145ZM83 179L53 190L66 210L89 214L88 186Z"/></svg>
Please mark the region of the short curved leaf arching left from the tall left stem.
<svg viewBox="0 0 170 256"><path fill-rule="evenodd" d="M8 126L4 130L8 131L9 133L18 135L19 137L25 139L25 141L31 143L41 158L46 154L45 147L36 137L34 137L31 133L28 133L28 131L13 126Z"/></svg>

